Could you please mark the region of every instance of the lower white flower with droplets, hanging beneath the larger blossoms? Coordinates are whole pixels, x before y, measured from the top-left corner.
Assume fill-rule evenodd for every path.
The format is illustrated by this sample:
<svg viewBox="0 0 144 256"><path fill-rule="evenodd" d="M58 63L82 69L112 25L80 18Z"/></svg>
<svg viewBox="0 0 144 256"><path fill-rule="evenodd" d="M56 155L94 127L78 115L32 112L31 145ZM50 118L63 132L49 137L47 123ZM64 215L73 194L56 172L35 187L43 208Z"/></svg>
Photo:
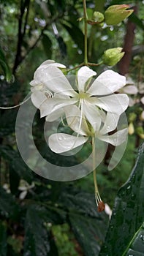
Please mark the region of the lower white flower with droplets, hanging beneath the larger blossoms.
<svg viewBox="0 0 144 256"><path fill-rule="evenodd" d="M72 110L70 113L69 110ZM118 125L119 116L115 113L105 114L105 119L97 121L95 124L91 119L92 127L88 127L86 118L81 118L79 108L75 105L67 106L66 118L69 127L74 131L78 132L77 136L67 135L65 133L56 133L50 135L48 143L50 149L55 153L61 154L77 148L88 141L88 138L96 137L99 140L103 140L113 146L119 146L124 143L127 136L127 128L118 130L113 135L108 135L108 132L112 132ZM80 124L80 127L79 127ZM94 129L95 127L95 129Z"/></svg>

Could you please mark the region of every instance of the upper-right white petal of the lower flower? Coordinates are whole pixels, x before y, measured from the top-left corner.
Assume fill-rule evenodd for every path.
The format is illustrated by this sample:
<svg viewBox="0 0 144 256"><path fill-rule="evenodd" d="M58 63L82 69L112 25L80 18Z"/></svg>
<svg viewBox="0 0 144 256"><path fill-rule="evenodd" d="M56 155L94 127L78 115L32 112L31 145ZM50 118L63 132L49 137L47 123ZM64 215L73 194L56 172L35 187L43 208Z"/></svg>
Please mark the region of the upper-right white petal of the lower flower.
<svg viewBox="0 0 144 256"><path fill-rule="evenodd" d="M118 125L119 116L115 113L107 112L107 116L105 118L105 124L100 130L101 135L105 135L108 132L113 131Z"/></svg>

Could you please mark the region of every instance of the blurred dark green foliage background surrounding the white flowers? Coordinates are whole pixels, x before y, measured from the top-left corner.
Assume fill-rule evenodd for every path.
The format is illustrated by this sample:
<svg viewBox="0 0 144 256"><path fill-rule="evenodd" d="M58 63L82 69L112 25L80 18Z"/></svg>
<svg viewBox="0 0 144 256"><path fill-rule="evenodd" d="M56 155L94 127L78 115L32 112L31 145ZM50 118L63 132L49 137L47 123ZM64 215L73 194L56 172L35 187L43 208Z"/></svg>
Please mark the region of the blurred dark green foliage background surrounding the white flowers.
<svg viewBox="0 0 144 256"><path fill-rule="evenodd" d="M129 73L139 89L143 86L144 75L144 3L90 0L87 1L89 17L94 10L104 12L111 4L132 4L135 13L118 26L88 26L88 58L91 62L99 62L107 48L124 46L129 61L122 60L113 70L124 75ZM82 16L80 0L0 1L1 106L17 105L23 100L29 92L34 70L42 61L55 59L69 68L83 61L83 21L77 21ZM132 33L126 39L128 31ZM131 46L129 42L132 42ZM102 65L94 69L99 74L106 68ZM114 206L110 223L107 214L96 211L92 175L62 183L45 180L29 170L15 142L18 109L0 110L1 256L144 255L143 148L140 148L134 173L118 192L132 171L137 148L142 143L143 120L140 115L143 105L139 100L143 97L144 89L142 91L134 96L136 104L127 110L134 133L129 135L123 159L115 170L108 172L110 148L97 170L100 193L111 208ZM39 113L35 119L34 134L39 138L37 146L42 154L53 157L39 132L44 121L39 121ZM20 187L24 188L23 195ZM123 224L121 219L124 219ZM121 241L121 233L125 244ZM142 243L136 243L134 247L135 238Z"/></svg>

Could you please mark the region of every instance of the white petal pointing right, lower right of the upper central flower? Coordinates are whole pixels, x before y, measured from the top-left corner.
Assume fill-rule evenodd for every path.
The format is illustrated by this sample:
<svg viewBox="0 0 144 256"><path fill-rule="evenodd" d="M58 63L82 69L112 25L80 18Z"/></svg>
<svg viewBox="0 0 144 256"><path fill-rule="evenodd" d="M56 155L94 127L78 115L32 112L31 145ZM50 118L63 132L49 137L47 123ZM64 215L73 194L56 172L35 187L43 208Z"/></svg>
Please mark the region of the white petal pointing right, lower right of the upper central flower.
<svg viewBox="0 0 144 256"><path fill-rule="evenodd" d="M126 94L113 94L106 97L90 98L91 102L107 112L121 115L129 105L129 97Z"/></svg>

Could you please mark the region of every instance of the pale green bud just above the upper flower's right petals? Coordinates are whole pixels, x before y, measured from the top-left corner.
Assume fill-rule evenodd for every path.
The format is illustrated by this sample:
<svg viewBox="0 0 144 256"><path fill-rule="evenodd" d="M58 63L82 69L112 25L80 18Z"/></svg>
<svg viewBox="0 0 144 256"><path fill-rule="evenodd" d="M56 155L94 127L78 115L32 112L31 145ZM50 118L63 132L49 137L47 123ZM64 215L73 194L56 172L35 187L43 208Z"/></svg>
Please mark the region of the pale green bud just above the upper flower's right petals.
<svg viewBox="0 0 144 256"><path fill-rule="evenodd" d="M103 63L107 66L114 66L117 64L124 56L124 52L121 53L121 50L122 48L120 47L105 50L105 53L102 56Z"/></svg>

